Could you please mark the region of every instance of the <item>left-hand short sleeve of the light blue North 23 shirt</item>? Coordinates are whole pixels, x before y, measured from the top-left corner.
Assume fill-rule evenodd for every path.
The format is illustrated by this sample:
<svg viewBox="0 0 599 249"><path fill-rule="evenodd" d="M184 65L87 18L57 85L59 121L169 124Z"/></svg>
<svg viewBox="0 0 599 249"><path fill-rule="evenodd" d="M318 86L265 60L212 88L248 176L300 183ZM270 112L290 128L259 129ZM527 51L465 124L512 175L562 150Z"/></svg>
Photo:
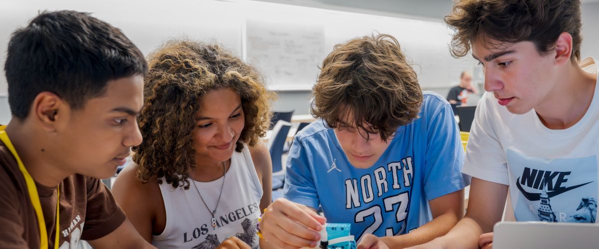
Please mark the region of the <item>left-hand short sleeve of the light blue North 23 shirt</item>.
<svg viewBox="0 0 599 249"><path fill-rule="evenodd" d="M289 201L318 209L320 202L308 155L299 137L295 137L287 156L283 196Z"/></svg>

